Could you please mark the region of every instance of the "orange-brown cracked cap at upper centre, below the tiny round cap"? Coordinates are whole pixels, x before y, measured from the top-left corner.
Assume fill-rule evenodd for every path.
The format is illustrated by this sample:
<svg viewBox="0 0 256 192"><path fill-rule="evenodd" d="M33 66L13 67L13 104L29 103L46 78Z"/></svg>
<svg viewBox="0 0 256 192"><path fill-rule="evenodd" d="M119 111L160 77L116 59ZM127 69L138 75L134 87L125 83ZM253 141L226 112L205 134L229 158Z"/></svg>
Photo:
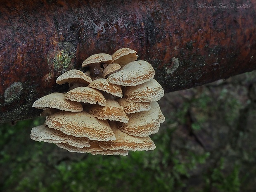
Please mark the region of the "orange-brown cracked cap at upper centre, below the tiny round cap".
<svg viewBox="0 0 256 192"><path fill-rule="evenodd" d="M88 85L88 87L102 90L117 97L123 97L123 92L120 85L109 83L106 79L103 78L95 79Z"/></svg>

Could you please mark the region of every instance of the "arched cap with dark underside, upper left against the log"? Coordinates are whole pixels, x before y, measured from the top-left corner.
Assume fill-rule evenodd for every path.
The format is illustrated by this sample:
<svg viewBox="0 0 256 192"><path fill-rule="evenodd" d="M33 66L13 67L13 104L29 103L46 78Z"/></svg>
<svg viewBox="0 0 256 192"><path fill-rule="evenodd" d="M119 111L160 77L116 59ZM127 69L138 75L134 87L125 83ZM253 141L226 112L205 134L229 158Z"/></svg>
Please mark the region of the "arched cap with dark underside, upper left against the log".
<svg viewBox="0 0 256 192"><path fill-rule="evenodd" d="M89 76L85 75L85 73L77 69L66 71L56 80L56 83L58 83L59 85L62 85L64 83L81 83L88 85L91 82L92 79Z"/></svg>

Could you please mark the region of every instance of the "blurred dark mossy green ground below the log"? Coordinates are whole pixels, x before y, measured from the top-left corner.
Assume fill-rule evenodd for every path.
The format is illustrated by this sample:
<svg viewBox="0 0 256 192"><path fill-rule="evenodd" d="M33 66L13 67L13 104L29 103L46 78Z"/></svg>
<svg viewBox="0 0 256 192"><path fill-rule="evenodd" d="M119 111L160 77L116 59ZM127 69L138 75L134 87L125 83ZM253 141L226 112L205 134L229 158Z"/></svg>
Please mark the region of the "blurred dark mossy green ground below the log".
<svg viewBox="0 0 256 192"><path fill-rule="evenodd" d="M35 142L43 118L0 125L3 192L253 192L256 72L166 94L154 151L76 154Z"/></svg>

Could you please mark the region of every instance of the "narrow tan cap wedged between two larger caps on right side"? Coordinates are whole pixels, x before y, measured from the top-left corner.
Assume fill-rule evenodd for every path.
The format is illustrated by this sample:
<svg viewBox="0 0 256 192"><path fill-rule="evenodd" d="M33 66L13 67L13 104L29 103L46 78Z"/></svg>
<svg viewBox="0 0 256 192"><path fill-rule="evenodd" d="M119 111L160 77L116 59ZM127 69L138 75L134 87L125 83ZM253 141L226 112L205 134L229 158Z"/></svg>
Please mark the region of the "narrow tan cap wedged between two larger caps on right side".
<svg viewBox="0 0 256 192"><path fill-rule="evenodd" d="M150 110L149 102L127 102L124 98L117 99L116 101L123 107L126 114Z"/></svg>

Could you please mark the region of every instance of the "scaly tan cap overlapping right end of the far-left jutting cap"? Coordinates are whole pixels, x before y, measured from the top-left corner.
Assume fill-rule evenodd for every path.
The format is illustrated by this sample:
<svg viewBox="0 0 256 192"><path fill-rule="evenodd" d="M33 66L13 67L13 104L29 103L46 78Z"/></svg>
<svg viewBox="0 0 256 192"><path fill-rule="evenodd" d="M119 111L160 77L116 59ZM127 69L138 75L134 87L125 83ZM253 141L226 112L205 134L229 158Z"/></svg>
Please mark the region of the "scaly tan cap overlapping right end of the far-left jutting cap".
<svg viewBox="0 0 256 192"><path fill-rule="evenodd" d="M96 89L89 87L78 87L65 93L67 100L84 102L90 104L100 104L101 106L106 105L106 100L102 93Z"/></svg>

